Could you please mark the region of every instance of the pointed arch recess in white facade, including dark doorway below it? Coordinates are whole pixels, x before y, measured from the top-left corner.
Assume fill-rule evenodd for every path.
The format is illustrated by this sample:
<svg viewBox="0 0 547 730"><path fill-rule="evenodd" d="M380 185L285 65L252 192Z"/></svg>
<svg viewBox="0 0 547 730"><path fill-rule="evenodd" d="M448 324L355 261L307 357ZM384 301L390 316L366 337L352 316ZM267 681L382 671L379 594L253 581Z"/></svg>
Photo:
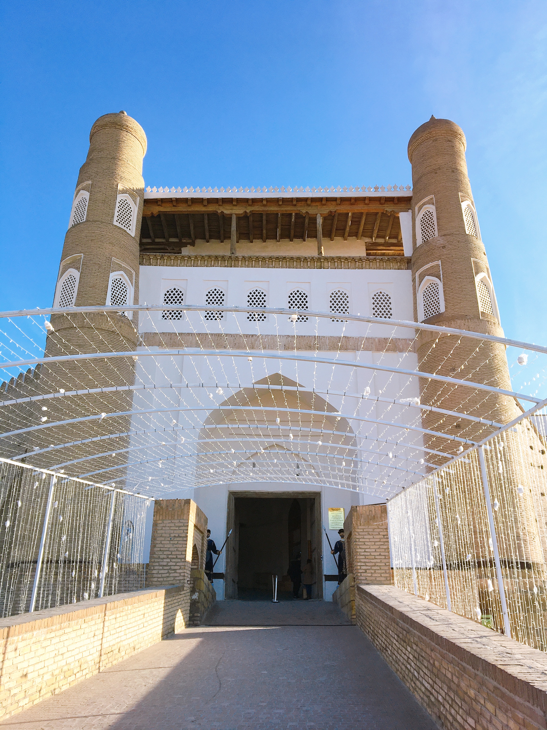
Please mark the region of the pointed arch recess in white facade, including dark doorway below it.
<svg viewBox="0 0 547 730"><path fill-rule="evenodd" d="M270 390L268 386L277 387ZM286 387L297 389L285 390ZM241 410L230 411L230 405ZM220 406L222 410L212 410L203 424L200 439L207 443L203 456L198 452L196 477L203 483L209 475L211 483L218 483L229 474L230 481L236 477L239 485L244 483L247 487L228 491L226 534L230 529L233 532L226 550L225 598L270 595L271 575L278 575L280 598L292 595L286 575L292 541L291 545L300 545L303 565L307 558L312 560L316 577L314 597L321 599L319 485L322 459L326 465L329 457L323 448L325 456L317 458L318 442L328 445L330 457L343 456L347 447L357 446L352 426L346 418L336 415L337 409L327 400L280 373L241 388ZM298 435L294 446L291 434ZM231 468L212 474L211 453L226 450L233 450ZM310 453L316 455L313 463ZM350 480L356 477L349 475ZM300 528L295 525L295 500L300 510Z"/></svg>

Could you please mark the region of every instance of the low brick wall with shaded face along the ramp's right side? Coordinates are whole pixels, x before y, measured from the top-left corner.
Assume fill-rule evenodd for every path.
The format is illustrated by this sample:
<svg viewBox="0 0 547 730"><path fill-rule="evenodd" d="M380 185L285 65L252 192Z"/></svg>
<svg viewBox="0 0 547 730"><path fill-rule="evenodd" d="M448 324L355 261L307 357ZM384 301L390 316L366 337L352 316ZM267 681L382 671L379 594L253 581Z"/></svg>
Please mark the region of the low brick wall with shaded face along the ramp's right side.
<svg viewBox="0 0 547 730"><path fill-rule="evenodd" d="M545 729L547 655L389 585L357 585L357 625L442 728Z"/></svg>

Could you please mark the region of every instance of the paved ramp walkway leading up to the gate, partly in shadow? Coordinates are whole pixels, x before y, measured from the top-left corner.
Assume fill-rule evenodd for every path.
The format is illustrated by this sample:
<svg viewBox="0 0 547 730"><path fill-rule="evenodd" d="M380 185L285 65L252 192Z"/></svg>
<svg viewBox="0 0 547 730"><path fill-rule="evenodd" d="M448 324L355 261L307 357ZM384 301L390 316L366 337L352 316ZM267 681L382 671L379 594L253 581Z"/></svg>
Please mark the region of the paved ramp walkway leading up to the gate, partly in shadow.
<svg viewBox="0 0 547 730"><path fill-rule="evenodd" d="M260 626L249 625L257 618ZM436 729L333 604L219 602L206 623L14 715L1 730Z"/></svg>

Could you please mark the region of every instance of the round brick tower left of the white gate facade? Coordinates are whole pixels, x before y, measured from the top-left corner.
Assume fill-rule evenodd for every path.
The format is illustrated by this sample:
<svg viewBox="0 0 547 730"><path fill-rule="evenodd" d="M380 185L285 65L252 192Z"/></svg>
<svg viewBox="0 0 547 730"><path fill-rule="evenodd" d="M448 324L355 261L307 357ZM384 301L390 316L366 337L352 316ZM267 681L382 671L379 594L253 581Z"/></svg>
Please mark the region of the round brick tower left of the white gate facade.
<svg viewBox="0 0 547 730"><path fill-rule="evenodd" d="M135 350L138 318L123 312L123 304L139 301L139 231L144 199L142 160L147 139L141 126L125 112L106 114L90 131L88 157L79 170L76 191L66 231L55 288L55 307L110 304L120 306L115 313L80 313L54 315L54 331L47 337L46 357L73 353L123 352ZM67 392L82 388L132 385L134 362L131 357L108 361L83 361L81 364L44 366L42 388ZM131 393L115 391L105 394L65 397L53 401L50 420L79 415L131 410ZM66 429L66 439L74 442L90 435L128 431L130 418L109 418ZM62 439L62 429L55 429ZM92 432L92 433L91 433ZM49 437L46 437L48 439ZM105 451L120 450L126 437L106 443ZM65 452L66 453L66 452ZM85 455L79 446L77 456ZM90 451L93 453L93 450ZM89 462L78 473L93 468L121 464L117 461ZM58 456L46 459L55 464ZM68 471L68 470L67 470ZM76 473L76 472L74 472ZM119 472L112 472L112 477ZM108 480L109 473L98 480Z"/></svg>

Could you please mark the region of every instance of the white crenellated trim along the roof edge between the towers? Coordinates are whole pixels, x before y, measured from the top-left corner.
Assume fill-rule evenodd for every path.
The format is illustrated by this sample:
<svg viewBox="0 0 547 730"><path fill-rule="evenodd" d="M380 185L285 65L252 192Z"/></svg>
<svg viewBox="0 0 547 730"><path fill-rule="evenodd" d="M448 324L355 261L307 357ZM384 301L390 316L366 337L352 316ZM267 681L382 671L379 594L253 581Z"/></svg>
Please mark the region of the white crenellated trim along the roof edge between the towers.
<svg viewBox="0 0 547 730"><path fill-rule="evenodd" d="M287 188L283 186L281 188L169 188L169 186L166 185L163 188L156 188L155 186L150 188L149 185L144 191L144 198L217 198L229 196L237 196L239 198L275 198L277 196L309 198L311 196L317 197L319 195L352 196L356 194L360 196L381 197L394 195L395 193L398 194L400 192L402 192L403 195L408 196L411 194L412 188L410 185L388 185L387 188L384 187L384 185L381 185L381 187L378 185L374 185L374 187L369 185L368 188L365 185L362 185L361 187L358 185L356 187L350 185L349 188L346 185L344 188L341 188L340 185L338 185L337 188L335 188L334 185L331 185L330 188L303 188L302 186L300 186L300 188L291 188L290 186L287 186Z"/></svg>

